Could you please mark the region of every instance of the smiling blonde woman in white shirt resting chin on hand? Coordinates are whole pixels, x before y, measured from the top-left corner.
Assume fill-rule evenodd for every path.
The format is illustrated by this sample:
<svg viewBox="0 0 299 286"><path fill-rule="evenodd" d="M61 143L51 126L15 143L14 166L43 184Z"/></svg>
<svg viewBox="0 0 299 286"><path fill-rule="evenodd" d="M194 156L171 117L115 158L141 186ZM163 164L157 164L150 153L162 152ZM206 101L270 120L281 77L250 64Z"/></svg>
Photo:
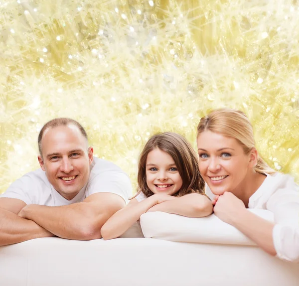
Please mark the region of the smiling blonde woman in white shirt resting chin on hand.
<svg viewBox="0 0 299 286"><path fill-rule="evenodd" d="M258 155L246 115L218 109L197 128L199 171L215 195L214 213L263 250L299 262L299 186ZM267 209L275 223L246 208Z"/></svg>

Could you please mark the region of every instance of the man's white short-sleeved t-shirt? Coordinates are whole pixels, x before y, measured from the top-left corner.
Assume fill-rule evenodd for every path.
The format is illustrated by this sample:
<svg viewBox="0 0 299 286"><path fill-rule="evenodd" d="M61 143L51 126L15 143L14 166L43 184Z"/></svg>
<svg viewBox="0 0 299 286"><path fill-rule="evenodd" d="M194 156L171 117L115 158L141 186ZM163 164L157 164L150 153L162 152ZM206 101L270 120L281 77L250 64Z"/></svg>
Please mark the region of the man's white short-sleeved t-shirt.
<svg viewBox="0 0 299 286"><path fill-rule="evenodd" d="M132 185L129 176L120 167L97 157L93 158L90 167L87 183L71 200L54 189L41 168L14 181L0 197L19 199L27 205L63 206L82 202L95 193L108 192L117 194L128 202L132 195Z"/></svg>

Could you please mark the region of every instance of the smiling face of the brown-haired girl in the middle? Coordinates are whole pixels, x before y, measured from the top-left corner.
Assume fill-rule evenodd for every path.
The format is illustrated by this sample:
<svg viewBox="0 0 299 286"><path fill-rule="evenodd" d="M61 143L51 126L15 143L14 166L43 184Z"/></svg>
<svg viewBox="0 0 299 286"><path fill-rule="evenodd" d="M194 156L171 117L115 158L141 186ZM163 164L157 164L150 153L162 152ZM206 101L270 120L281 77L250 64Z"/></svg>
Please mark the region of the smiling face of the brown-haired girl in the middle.
<svg viewBox="0 0 299 286"><path fill-rule="evenodd" d="M146 175L147 185L154 194L173 195L183 183L172 157L158 148L148 154Z"/></svg>

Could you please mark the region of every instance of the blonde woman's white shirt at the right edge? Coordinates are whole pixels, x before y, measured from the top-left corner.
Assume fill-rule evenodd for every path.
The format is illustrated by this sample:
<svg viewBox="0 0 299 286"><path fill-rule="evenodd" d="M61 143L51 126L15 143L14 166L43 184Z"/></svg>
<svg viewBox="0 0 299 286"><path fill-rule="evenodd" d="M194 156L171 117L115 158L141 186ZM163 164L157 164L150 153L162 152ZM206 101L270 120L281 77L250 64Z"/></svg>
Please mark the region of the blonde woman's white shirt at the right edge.
<svg viewBox="0 0 299 286"><path fill-rule="evenodd" d="M206 185L207 194L213 193ZM267 174L258 190L249 198L248 208L274 213L273 242L277 257L299 262L299 186L290 175Z"/></svg>

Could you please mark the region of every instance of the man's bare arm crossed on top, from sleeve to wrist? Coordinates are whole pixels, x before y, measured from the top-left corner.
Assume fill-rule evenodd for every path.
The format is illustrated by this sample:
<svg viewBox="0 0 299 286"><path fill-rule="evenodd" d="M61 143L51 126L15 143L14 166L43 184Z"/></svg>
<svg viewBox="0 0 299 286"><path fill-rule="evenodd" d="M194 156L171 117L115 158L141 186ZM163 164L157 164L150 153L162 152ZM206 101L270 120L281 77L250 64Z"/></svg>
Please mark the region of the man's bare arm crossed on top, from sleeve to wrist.
<svg viewBox="0 0 299 286"><path fill-rule="evenodd" d="M101 227L124 206L117 194L95 193L83 202L65 206L26 205L18 216L61 238L91 240L101 238Z"/></svg>

